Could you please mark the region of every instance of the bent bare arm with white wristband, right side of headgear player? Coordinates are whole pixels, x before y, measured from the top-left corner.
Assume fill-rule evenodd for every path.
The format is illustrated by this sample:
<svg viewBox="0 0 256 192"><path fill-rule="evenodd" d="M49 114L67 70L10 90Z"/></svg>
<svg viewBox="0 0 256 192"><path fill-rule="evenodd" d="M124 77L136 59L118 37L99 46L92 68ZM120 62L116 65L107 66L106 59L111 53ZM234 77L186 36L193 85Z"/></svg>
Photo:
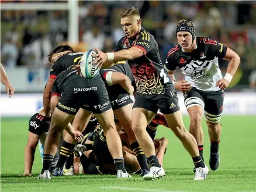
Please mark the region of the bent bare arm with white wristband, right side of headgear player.
<svg viewBox="0 0 256 192"><path fill-rule="evenodd" d="M240 64L240 56L236 52L232 51L230 48L227 48L226 56L223 59L229 60L229 65L227 66L227 72L223 79L220 79L216 83L216 87L221 88L222 90L226 89L229 86L234 74L237 71L237 68Z"/></svg>

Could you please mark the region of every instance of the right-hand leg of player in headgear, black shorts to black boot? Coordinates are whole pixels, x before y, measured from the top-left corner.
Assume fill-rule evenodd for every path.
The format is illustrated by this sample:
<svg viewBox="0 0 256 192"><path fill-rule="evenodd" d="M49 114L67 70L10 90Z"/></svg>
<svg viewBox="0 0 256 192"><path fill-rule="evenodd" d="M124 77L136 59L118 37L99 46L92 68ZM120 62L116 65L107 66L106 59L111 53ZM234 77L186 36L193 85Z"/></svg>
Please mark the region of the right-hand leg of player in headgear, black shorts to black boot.
<svg viewBox="0 0 256 192"><path fill-rule="evenodd" d="M217 170L220 165L219 143L222 125L220 119L223 111L224 93L222 90L205 95L205 119L210 137L210 168Z"/></svg>

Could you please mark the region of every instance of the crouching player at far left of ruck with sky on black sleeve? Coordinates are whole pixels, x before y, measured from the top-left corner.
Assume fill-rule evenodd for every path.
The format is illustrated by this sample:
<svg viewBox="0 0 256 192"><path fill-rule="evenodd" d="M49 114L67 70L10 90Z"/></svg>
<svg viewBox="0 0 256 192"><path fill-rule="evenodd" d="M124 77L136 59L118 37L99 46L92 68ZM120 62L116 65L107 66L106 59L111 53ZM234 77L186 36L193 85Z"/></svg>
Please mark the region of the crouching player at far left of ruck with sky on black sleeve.
<svg viewBox="0 0 256 192"><path fill-rule="evenodd" d="M25 147L24 173L23 176L32 176L32 166L37 144L44 147L44 142L49 131L51 117L44 116L43 108L40 108L29 119L29 136ZM41 147L40 146L40 147ZM52 167L56 166L58 161L58 152L54 157Z"/></svg>

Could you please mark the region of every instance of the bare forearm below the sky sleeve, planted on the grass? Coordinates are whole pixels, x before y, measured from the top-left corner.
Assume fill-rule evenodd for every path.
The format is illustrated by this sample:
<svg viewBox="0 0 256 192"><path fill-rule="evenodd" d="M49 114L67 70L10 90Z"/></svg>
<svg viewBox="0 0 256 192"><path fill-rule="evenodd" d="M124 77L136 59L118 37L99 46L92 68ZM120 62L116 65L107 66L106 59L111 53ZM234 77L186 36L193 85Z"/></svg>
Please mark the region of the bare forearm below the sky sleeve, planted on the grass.
<svg viewBox="0 0 256 192"><path fill-rule="evenodd" d="M34 153L36 152L36 146L38 144L38 141L39 141L39 136L37 134L29 132L29 138L27 140L27 144L25 148L23 176L32 176Z"/></svg>

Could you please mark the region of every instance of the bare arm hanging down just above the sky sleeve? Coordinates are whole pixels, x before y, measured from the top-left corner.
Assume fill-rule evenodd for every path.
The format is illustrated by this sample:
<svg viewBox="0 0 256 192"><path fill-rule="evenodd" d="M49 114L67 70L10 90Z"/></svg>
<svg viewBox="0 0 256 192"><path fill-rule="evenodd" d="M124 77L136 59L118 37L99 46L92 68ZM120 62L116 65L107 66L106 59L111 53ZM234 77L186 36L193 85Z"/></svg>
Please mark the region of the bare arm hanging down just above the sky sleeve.
<svg viewBox="0 0 256 192"><path fill-rule="evenodd" d="M46 84L46 88L44 88L43 106L44 106L44 114L46 114L46 116L50 116L51 88L53 88L54 81L55 79L49 78Z"/></svg>

